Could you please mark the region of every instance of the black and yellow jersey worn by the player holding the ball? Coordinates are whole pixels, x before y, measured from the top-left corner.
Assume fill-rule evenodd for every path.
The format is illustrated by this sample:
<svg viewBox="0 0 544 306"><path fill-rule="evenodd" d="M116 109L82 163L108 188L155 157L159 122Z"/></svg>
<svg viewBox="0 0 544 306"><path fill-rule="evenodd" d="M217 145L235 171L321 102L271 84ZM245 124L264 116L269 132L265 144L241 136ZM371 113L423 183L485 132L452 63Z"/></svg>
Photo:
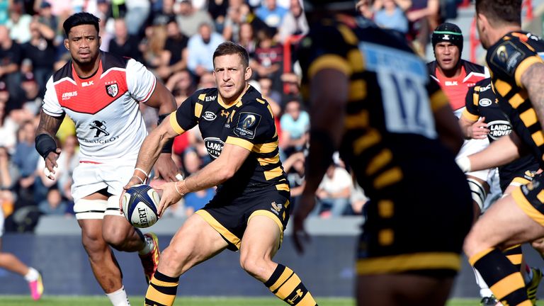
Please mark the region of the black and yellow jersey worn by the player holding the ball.
<svg viewBox="0 0 544 306"><path fill-rule="evenodd" d="M218 194L225 191L239 196L256 188L289 191L279 157L274 115L254 87L249 86L229 105L215 88L196 91L170 116L170 123L180 134L198 125L212 159L219 157L227 143L251 152L237 173L218 187Z"/></svg>

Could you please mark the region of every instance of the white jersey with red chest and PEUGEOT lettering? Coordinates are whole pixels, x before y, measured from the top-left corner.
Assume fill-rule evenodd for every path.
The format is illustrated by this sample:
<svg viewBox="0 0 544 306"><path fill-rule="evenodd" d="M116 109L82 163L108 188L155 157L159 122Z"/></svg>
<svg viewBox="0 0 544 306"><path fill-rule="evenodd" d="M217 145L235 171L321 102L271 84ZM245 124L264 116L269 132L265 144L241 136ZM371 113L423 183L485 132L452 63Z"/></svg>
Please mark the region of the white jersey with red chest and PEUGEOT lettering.
<svg viewBox="0 0 544 306"><path fill-rule="evenodd" d="M147 135L138 103L152 95L156 78L140 62L102 52L100 67L81 79L68 62L47 81L42 109L76 124L81 162L136 159Z"/></svg>

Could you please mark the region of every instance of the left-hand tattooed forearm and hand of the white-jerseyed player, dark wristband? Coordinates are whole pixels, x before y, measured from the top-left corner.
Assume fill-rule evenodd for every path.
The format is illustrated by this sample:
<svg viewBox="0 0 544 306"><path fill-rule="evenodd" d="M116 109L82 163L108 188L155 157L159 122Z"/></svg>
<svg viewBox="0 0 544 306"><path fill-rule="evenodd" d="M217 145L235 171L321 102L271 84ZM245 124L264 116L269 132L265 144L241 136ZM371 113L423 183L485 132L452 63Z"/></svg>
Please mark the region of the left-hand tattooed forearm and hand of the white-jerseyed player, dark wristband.
<svg viewBox="0 0 544 306"><path fill-rule="evenodd" d="M55 167L60 155L60 148L55 143L55 135L64 119L64 114L60 117L47 115L43 111L40 113L40 123L36 130L36 149L45 159L45 168L50 171L46 175L49 179L55 179Z"/></svg>

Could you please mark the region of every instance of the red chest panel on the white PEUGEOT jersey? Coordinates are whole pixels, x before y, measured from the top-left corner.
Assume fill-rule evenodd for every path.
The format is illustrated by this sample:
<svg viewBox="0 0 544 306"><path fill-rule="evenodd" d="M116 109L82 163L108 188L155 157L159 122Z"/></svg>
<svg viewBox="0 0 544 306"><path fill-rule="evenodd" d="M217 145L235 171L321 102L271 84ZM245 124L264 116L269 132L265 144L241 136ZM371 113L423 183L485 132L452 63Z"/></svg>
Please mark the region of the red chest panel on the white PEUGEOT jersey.
<svg viewBox="0 0 544 306"><path fill-rule="evenodd" d="M77 113L96 114L128 91L126 71L111 69L103 75L102 62L96 74L89 79L79 78L73 65L72 75L76 84L68 80L60 81L55 84L55 91L60 106ZM108 87L112 86L116 90L110 90L108 94ZM113 93L115 95L111 96Z"/></svg>

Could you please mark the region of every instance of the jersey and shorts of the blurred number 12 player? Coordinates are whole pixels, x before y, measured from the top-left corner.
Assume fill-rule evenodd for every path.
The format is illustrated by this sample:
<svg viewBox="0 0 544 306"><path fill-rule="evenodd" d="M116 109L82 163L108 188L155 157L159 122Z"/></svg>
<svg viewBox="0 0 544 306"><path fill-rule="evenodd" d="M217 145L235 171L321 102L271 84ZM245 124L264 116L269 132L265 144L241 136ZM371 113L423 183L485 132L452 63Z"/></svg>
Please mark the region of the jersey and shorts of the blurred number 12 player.
<svg viewBox="0 0 544 306"><path fill-rule="evenodd" d="M438 140L433 111L448 100L424 62L391 32L343 15L310 26L299 49L306 100L322 69L350 81L339 151L370 198L357 273L458 271L472 200Z"/></svg>

